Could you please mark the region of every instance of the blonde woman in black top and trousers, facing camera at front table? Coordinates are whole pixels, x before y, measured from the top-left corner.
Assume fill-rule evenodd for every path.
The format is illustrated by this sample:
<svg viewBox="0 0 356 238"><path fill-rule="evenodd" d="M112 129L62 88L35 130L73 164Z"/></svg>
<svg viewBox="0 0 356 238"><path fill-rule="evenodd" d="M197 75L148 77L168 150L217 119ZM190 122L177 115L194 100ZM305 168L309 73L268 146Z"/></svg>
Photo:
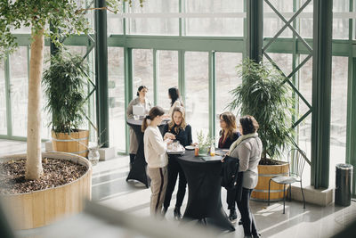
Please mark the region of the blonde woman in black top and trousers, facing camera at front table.
<svg viewBox="0 0 356 238"><path fill-rule="evenodd" d="M171 121L165 125L164 138L170 138L172 140L178 140L182 146L190 145L191 139L191 127L185 122L184 109L182 107L175 107L172 112ZM174 218L180 220L182 218L181 206L185 195L185 189L187 186L187 180L185 179L183 170L176 160L174 155L168 156L168 185L166 189L166 198L164 202L163 212L166 211L171 203L172 193L179 175L177 200L175 201Z"/></svg>

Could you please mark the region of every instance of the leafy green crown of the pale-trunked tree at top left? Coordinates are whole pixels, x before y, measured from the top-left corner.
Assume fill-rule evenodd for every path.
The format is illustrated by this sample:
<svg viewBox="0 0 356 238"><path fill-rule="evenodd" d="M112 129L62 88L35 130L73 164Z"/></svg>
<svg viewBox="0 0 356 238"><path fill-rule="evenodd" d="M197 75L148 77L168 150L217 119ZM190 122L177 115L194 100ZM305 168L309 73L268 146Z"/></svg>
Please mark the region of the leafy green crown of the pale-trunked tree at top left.
<svg viewBox="0 0 356 238"><path fill-rule="evenodd" d="M120 1L107 0L102 10L118 12ZM143 0L139 0L142 5ZM85 12L98 10L85 7L85 0L0 0L0 59L7 53L12 53L18 46L12 29L22 26L31 27L32 36L40 29L44 29L44 37L61 47L64 38L72 34L88 34L91 30L89 22L85 19ZM51 22L52 29L47 26Z"/></svg>

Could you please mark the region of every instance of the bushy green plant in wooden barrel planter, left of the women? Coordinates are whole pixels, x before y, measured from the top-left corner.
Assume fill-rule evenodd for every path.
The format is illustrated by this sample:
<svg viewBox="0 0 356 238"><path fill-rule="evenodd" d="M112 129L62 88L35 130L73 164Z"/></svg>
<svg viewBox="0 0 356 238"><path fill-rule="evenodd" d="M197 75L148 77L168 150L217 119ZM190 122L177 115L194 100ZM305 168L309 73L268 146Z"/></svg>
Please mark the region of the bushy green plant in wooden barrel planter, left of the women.
<svg viewBox="0 0 356 238"><path fill-rule="evenodd" d="M45 109L52 115L54 151L84 157L88 154L89 131L79 129L85 119L87 70L88 65L82 56L64 49L51 57L50 67L44 70Z"/></svg>

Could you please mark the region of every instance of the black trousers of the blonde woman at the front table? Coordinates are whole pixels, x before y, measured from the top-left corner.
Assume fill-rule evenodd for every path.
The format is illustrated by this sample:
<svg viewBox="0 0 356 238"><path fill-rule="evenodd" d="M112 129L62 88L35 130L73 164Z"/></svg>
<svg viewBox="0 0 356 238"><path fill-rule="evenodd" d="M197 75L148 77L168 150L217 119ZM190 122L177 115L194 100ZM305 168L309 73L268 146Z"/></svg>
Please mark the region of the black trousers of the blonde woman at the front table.
<svg viewBox="0 0 356 238"><path fill-rule="evenodd" d="M179 165L174 155L170 155L168 159L168 185L166 188L165 202L163 204L166 209L169 208L169 204L171 203L172 193L174 192L174 187L177 182L178 175L178 193L175 207L181 208L187 186L187 180L184 176L181 166Z"/></svg>

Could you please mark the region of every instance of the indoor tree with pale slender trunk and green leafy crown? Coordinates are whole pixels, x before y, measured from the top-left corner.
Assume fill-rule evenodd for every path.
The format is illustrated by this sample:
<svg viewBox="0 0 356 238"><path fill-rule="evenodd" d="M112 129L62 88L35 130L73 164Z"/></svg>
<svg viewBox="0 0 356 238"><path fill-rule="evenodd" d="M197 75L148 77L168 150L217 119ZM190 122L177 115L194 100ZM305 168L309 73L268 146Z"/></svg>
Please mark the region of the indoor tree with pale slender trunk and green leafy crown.
<svg viewBox="0 0 356 238"><path fill-rule="evenodd" d="M127 1L127 0L121 0ZM143 0L139 0L142 4ZM85 9L83 0L1 0L0 59L12 53L16 37L12 29L31 28L31 48L28 78L28 144L26 179L38 179L41 160L41 77L43 71L44 37L61 47L64 38L72 34L88 34L85 12L98 10L117 12L120 0L107 0L106 6ZM131 4L131 0L128 0ZM49 28L49 24L53 27Z"/></svg>

